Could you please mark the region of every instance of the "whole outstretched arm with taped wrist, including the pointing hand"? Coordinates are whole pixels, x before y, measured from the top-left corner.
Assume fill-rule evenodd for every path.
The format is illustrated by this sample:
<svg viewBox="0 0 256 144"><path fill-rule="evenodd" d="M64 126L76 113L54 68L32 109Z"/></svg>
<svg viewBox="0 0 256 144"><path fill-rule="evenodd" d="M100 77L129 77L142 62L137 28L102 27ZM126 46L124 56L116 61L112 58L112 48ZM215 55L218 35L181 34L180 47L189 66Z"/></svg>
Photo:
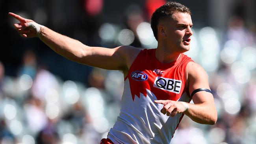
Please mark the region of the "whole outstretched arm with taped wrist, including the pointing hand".
<svg viewBox="0 0 256 144"><path fill-rule="evenodd" d="M14 13L9 13L9 15L20 21L19 24L14 24L14 27L22 37L39 37L52 50L67 59L89 66L122 70L124 76L140 51L132 46L119 46L112 49L86 46L80 41L61 35L45 26L36 23L33 23L33 26L29 25L34 22L33 20Z"/></svg>

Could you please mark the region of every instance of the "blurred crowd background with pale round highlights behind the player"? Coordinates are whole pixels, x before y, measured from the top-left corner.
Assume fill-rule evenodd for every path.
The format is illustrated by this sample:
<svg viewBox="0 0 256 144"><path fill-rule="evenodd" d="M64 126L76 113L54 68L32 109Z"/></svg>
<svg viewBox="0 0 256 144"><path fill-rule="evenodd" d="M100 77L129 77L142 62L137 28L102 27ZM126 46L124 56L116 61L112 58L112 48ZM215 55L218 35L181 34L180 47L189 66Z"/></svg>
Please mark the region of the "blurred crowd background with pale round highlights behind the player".
<svg viewBox="0 0 256 144"><path fill-rule="evenodd" d="M165 0L0 0L0 143L98 144L120 111L123 74L74 63L14 30L13 12L89 46L156 48ZM186 52L202 65L217 124L184 116L171 144L256 144L255 0L177 0L192 11Z"/></svg>

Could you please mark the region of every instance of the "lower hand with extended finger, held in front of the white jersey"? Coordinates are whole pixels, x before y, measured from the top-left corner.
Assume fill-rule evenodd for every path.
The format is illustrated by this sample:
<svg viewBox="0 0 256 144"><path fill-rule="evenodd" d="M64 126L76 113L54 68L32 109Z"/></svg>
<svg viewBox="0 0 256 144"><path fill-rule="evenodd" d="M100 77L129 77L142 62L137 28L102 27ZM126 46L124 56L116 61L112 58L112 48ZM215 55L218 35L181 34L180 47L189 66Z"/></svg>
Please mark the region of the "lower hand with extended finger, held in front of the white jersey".
<svg viewBox="0 0 256 144"><path fill-rule="evenodd" d="M186 111L186 107L181 102L176 102L173 100L155 100L155 103L163 104L163 109L161 113L166 114L167 116L173 117L177 113L183 113Z"/></svg>

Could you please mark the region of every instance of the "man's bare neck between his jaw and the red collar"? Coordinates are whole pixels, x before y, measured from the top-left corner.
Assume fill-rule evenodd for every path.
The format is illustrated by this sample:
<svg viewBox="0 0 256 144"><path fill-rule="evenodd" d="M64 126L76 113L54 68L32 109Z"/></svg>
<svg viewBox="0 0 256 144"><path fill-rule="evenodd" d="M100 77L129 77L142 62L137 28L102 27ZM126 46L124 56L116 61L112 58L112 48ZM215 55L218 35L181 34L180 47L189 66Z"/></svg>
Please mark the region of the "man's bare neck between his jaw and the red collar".
<svg viewBox="0 0 256 144"><path fill-rule="evenodd" d="M178 60L178 58L180 57L180 53L172 52L169 49L165 50L164 48L160 48L159 46L156 49L155 55L156 59L158 59L158 61L160 61L161 63L171 63Z"/></svg>

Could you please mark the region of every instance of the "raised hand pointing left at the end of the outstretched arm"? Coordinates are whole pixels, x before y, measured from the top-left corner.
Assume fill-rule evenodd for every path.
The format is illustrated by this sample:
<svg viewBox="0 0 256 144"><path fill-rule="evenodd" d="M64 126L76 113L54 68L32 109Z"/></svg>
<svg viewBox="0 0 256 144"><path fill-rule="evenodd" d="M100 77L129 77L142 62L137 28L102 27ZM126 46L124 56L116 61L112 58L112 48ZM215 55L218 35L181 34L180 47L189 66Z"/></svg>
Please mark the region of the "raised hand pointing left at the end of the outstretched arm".
<svg viewBox="0 0 256 144"><path fill-rule="evenodd" d="M20 21L19 24L13 24L14 28L18 31L21 37L36 37L37 30L34 27L29 26L28 22L34 22L33 20L26 19L16 15L15 13L8 13L11 17Z"/></svg>

